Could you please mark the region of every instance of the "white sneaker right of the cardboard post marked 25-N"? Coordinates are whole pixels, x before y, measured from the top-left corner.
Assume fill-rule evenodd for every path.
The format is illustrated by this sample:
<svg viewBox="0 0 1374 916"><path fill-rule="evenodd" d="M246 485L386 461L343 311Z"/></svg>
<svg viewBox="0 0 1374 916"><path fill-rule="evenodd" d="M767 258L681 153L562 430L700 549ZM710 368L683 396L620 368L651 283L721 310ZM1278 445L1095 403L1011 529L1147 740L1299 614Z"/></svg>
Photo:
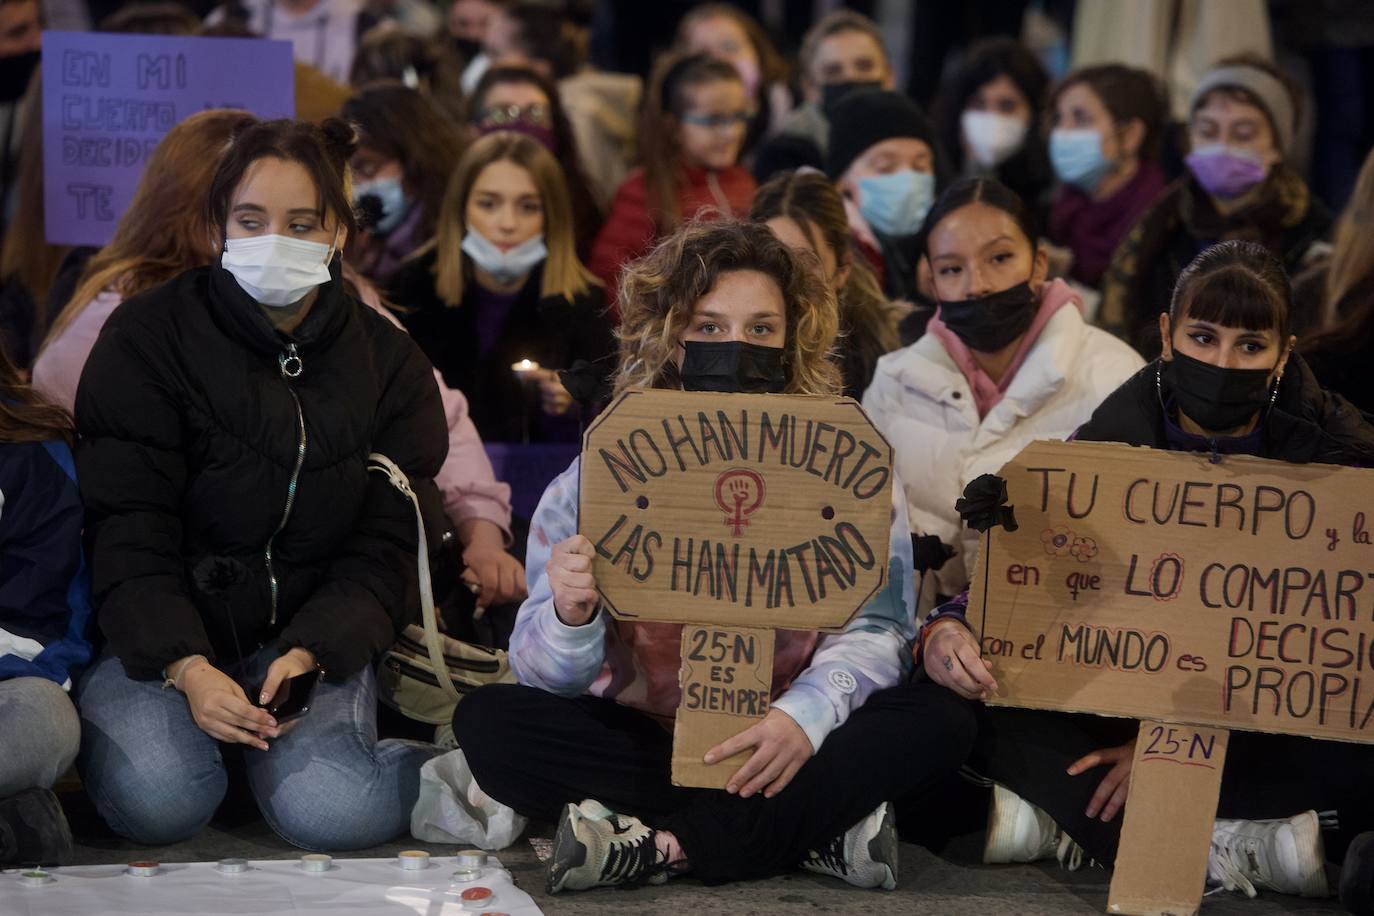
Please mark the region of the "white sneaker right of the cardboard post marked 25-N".
<svg viewBox="0 0 1374 916"><path fill-rule="evenodd" d="M1259 889L1327 897L1326 856L1316 812L1286 820L1217 818L1206 861L1209 884L1254 897Z"/></svg>

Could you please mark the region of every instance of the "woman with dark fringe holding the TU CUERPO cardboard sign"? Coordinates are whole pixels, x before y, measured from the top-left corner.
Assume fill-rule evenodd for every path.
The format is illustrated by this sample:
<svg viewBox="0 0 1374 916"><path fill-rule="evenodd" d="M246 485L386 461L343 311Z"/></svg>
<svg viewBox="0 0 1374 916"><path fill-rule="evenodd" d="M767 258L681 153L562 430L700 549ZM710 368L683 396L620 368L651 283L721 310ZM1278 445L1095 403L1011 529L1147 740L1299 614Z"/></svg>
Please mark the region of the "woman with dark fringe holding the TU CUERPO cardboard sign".
<svg viewBox="0 0 1374 916"><path fill-rule="evenodd" d="M1160 316L1161 358L1107 397L1076 438L1213 460L1374 464L1374 427L1322 390L1293 354L1290 299L1282 264L1263 246L1224 242L1205 250L1179 276L1169 312ZM923 662L936 683L978 698L998 685L963 622L965 602L926 622ZM987 707L970 761L996 783L985 861L1057 851L1061 861L1081 851L1114 861L1135 735L1129 720ZM1374 748L1363 744L1232 732L1210 883L1250 895L1256 889L1326 895L1325 840L1333 861L1344 856L1342 902L1370 912L1374 834L1358 835L1374 829L1371 765Z"/></svg>

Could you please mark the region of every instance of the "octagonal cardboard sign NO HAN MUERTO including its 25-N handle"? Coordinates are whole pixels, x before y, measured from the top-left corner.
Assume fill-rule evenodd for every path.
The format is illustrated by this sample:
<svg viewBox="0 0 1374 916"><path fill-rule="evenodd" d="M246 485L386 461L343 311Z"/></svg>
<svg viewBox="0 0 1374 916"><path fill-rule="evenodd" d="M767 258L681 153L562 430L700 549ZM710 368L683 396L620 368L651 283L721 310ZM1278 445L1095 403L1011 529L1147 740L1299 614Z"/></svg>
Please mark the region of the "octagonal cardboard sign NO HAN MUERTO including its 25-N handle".
<svg viewBox="0 0 1374 916"><path fill-rule="evenodd" d="M587 430L578 530L609 612L683 629L673 781L768 711L772 629L842 629L888 582L892 448L849 398L633 390Z"/></svg>

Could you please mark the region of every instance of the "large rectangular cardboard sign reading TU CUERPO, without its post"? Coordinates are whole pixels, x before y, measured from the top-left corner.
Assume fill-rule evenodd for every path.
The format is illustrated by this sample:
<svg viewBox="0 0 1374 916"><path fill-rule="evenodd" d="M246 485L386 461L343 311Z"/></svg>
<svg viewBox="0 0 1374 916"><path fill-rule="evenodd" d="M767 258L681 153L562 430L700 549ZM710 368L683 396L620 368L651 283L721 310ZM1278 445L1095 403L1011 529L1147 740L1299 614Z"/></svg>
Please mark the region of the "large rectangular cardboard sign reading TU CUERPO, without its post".
<svg viewBox="0 0 1374 916"><path fill-rule="evenodd" d="M991 703L1374 742L1374 471L1035 442L1002 477Z"/></svg>

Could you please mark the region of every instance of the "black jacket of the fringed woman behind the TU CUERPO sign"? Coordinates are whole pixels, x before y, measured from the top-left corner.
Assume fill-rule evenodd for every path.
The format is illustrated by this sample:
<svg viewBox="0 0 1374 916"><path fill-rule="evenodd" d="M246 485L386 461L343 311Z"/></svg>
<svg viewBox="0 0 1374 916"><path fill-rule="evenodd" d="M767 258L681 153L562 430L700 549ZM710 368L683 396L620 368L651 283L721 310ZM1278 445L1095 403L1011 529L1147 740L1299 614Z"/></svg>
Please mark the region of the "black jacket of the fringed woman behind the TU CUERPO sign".
<svg viewBox="0 0 1374 916"><path fill-rule="evenodd" d="M1109 394L1073 438L1169 449L1156 363ZM1323 390L1307 363L1293 354L1274 408L1260 426L1256 455L1293 464L1374 467L1374 426L1340 394Z"/></svg>

